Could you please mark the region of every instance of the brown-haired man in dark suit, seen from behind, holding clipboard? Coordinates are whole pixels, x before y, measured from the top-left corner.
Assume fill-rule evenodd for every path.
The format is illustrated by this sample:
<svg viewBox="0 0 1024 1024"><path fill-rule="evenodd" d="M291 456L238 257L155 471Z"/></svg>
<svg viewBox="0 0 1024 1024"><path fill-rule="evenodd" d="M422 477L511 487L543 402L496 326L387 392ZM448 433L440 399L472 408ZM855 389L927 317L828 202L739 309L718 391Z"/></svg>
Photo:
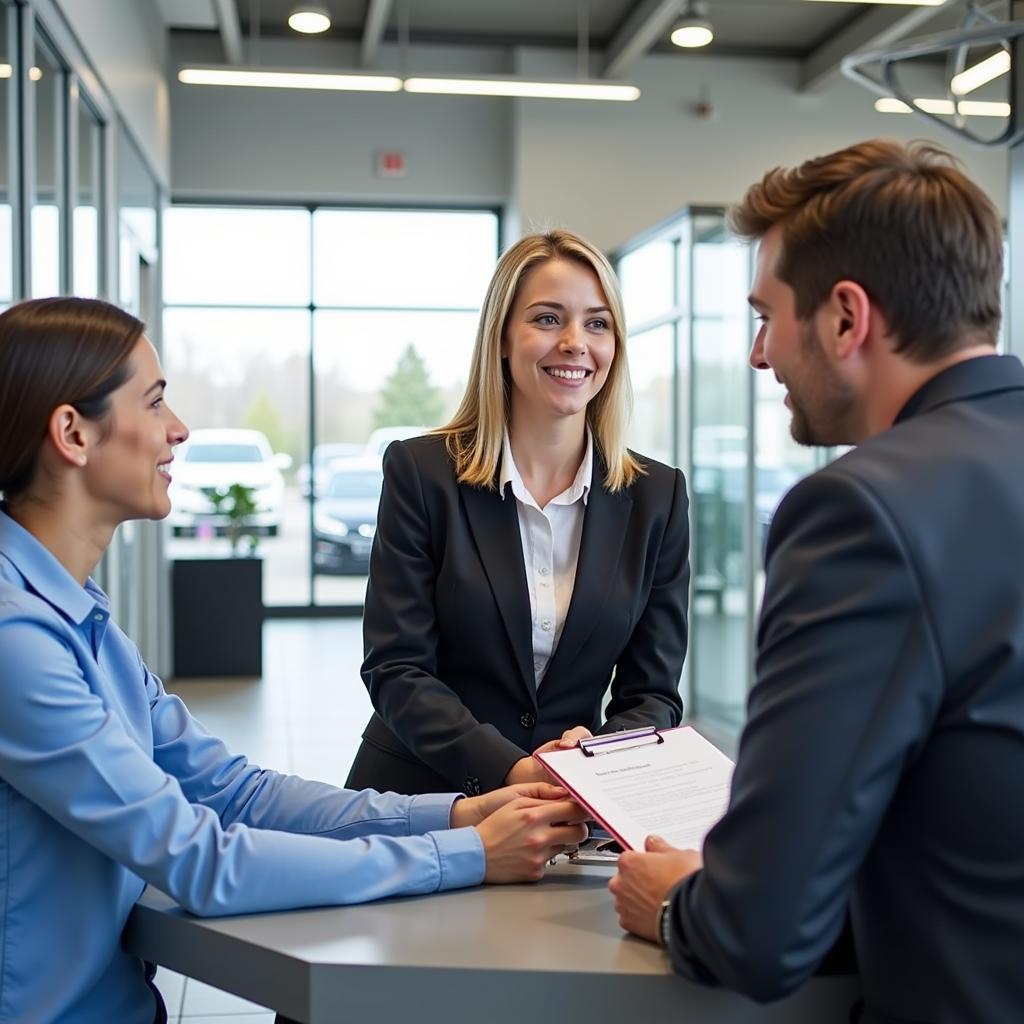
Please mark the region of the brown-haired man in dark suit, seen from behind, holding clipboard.
<svg viewBox="0 0 1024 1024"><path fill-rule="evenodd" d="M757 999L848 921L857 1019L1024 1019L1024 368L995 354L998 216L941 151L775 170L751 362L794 437L856 449L782 501L729 809L611 882L681 974Z"/></svg>

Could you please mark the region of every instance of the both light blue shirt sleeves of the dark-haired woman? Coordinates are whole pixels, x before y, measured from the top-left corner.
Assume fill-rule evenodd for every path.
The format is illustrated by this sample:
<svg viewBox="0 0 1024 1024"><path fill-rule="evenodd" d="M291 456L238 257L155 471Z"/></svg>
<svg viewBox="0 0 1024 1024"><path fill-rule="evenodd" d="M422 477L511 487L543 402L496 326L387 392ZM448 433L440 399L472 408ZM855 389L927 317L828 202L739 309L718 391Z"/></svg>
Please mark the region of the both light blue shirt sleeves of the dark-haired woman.
<svg viewBox="0 0 1024 1024"><path fill-rule="evenodd" d="M227 757L179 700L163 693L151 702L151 757L45 624L6 618L0 649L0 776L194 913L358 903L482 879L473 829L411 835L431 819L446 824L438 808L430 813L408 798L331 795L325 786L283 781ZM143 681L140 675L118 682ZM296 806L283 806L293 800Z"/></svg>

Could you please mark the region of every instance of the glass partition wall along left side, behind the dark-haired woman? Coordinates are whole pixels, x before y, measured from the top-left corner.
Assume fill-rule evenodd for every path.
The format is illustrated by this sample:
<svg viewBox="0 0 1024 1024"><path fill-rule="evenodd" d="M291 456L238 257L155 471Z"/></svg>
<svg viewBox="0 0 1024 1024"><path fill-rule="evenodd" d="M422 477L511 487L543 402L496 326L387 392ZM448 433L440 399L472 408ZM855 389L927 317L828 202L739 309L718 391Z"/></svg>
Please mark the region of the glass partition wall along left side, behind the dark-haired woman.
<svg viewBox="0 0 1024 1024"><path fill-rule="evenodd" d="M115 182L144 179L152 225L145 261L157 266L160 186L137 154L131 165L122 159L133 150L55 6L0 0L0 309L30 297L109 298L140 315L159 347L159 282L150 274L143 294L138 259L118 261L114 211L126 202ZM125 524L93 574L115 617L165 673L161 536L154 524Z"/></svg>

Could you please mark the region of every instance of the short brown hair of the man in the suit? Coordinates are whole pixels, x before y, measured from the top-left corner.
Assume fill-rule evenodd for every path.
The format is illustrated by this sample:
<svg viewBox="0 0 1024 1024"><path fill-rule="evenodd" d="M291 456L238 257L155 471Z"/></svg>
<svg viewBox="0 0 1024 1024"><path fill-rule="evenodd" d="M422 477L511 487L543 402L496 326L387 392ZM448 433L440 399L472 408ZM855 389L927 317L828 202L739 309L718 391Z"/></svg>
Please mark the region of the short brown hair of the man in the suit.
<svg viewBox="0 0 1024 1024"><path fill-rule="evenodd" d="M733 230L751 240L781 225L774 271L794 290L801 319L849 280L881 309L907 358L928 362L995 343L999 216L936 145L871 139L776 168L729 216Z"/></svg>

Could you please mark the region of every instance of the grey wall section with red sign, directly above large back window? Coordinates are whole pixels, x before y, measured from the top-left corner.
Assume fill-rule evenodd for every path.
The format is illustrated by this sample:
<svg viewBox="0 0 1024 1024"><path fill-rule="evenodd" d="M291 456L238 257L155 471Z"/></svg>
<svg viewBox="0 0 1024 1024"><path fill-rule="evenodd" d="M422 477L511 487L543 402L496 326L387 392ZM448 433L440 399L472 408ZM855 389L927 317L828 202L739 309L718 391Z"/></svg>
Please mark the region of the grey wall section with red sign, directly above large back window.
<svg viewBox="0 0 1024 1024"><path fill-rule="evenodd" d="M305 41L303 41L305 42ZM350 47L265 40L263 66L352 68ZM512 108L501 100L408 93L311 92L181 85L180 65L220 62L219 46L189 36L172 45L175 198L503 204L512 165ZM460 71L506 70L503 54L433 50ZM397 58L391 60L393 67ZM387 56L382 67L387 67ZM417 56L417 68L425 67ZM403 178L374 175L375 154L406 154Z"/></svg>

